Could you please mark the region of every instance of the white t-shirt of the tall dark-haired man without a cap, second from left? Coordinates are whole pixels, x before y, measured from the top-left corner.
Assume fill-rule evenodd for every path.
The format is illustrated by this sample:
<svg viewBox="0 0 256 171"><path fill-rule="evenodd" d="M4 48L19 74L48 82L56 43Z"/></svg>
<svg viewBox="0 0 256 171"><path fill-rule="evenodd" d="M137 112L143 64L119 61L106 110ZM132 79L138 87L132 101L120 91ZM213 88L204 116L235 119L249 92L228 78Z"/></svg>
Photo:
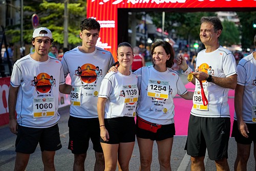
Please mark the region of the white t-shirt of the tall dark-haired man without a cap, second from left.
<svg viewBox="0 0 256 171"><path fill-rule="evenodd" d="M66 52L61 63L65 77L70 74L71 86L81 89L81 105L71 105L70 115L77 118L97 118L100 84L115 63L112 54L98 47L92 53L83 53L77 47Z"/></svg>

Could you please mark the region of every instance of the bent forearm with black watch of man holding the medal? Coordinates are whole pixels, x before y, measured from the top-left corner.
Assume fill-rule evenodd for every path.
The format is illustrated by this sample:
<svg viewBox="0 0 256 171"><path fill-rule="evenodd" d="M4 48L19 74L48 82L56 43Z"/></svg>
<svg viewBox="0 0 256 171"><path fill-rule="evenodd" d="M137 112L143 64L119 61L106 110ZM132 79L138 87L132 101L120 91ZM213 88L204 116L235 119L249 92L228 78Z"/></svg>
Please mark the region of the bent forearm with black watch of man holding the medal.
<svg viewBox="0 0 256 171"><path fill-rule="evenodd" d="M206 78L209 77L209 74L205 72L194 72L194 76L197 77L199 81L201 80L206 80ZM228 88L228 89L236 89L237 86L237 74L231 75L229 77L216 77L212 76L212 83L215 83L216 85L223 87L223 88Z"/></svg>

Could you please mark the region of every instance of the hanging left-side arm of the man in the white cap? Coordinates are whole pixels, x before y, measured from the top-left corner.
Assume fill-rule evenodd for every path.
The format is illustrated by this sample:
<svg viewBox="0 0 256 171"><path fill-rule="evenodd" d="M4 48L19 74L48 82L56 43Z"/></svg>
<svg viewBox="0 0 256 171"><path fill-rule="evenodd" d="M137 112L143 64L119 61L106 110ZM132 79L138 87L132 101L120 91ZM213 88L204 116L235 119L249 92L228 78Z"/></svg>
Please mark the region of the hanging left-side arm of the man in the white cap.
<svg viewBox="0 0 256 171"><path fill-rule="evenodd" d="M18 89L10 86L8 95L8 106L9 106L9 129L13 134L17 134L17 120L15 117L16 102L18 96Z"/></svg>

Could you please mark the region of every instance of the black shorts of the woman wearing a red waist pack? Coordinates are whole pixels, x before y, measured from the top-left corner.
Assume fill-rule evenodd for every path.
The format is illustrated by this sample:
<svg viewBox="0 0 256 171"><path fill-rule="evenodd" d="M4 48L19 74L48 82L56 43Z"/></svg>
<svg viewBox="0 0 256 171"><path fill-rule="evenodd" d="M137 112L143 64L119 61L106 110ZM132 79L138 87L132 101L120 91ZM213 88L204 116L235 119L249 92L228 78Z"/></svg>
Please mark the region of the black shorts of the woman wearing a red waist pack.
<svg viewBox="0 0 256 171"><path fill-rule="evenodd" d="M143 139L151 139L152 141L162 141L167 138L173 138L175 135L175 125L167 124L162 125L160 129L157 130L156 133L151 131L143 130L138 127L138 122L136 122L136 137Z"/></svg>

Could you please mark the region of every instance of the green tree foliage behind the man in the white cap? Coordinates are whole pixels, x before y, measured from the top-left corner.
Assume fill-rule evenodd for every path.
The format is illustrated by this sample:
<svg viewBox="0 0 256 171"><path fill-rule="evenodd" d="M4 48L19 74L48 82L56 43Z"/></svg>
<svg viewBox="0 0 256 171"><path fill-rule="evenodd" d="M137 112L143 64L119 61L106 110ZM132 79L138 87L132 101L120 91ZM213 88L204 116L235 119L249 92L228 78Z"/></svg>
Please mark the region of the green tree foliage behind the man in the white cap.
<svg viewBox="0 0 256 171"><path fill-rule="evenodd" d="M39 1L39 0L38 0ZM64 1L24 1L24 42L31 44L33 28L31 17L34 13L39 16L39 27L47 27L52 31L54 44L62 46L64 34ZM86 2L83 0L69 0L68 4L68 42L75 46L81 42L79 37L80 22L86 17ZM6 34L12 35L12 42L20 40L20 25L6 28Z"/></svg>

